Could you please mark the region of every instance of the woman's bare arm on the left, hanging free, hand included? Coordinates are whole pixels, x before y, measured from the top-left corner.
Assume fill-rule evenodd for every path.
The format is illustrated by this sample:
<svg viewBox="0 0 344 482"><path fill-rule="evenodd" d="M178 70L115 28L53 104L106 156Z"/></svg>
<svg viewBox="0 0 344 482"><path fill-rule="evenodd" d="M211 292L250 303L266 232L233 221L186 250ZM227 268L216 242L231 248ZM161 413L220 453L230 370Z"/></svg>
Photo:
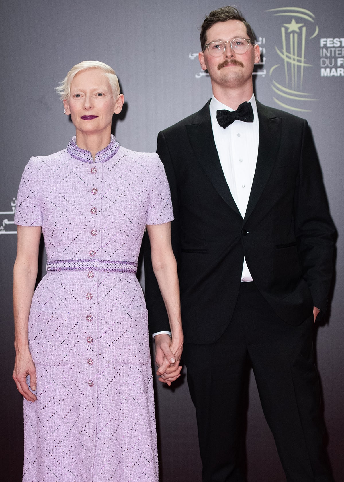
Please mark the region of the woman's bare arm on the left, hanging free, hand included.
<svg viewBox="0 0 344 482"><path fill-rule="evenodd" d="M27 384L30 375L30 388L36 390L36 368L28 347L28 317L35 289L40 247L40 226L18 226L17 257L13 268L13 312L14 347L16 351L13 380L23 397L34 402L33 394Z"/></svg>

